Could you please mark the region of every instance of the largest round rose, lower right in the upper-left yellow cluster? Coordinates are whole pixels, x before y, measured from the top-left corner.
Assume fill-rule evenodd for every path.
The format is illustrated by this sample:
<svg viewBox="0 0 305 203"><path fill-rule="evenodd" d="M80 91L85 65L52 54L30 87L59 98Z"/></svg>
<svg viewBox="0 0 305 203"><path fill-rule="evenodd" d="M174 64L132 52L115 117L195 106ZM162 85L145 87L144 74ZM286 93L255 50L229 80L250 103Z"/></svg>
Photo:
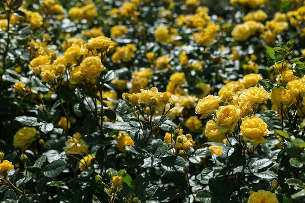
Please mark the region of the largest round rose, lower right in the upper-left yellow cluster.
<svg viewBox="0 0 305 203"><path fill-rule="evenodd" d="M83 77L87 80L97 78L106 70L106 67L102 64L101 58L98 56L85 58L79 66Z"/></svg>

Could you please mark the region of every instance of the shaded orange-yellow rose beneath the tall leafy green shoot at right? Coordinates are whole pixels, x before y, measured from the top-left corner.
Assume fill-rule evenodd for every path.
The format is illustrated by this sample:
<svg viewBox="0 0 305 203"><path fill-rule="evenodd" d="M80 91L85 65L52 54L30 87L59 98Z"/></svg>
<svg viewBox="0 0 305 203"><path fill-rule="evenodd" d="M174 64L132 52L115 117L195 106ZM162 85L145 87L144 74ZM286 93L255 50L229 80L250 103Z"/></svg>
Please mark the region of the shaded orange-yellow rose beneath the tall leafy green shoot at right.
<svg viewBox="0 0 305 203"><path fill-rule="evenodd" d="M272 92L271 101L273 104L283 104L287 107L291 107L291 105L296 103L296 98L290 90L281 86Z"/></svg>

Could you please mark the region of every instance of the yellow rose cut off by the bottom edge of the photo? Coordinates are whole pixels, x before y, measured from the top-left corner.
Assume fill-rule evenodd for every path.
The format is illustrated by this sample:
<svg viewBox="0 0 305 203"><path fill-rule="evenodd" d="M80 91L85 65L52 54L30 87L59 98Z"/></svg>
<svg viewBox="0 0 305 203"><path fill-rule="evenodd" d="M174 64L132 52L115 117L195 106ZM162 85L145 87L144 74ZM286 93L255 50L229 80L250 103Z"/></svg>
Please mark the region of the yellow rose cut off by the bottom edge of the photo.
<svg viewBox="0 0 305 203"><path fill-rule="evenodd" d="M248 199L248 203L279 203L276 193L271 193L270 191L259 190L258 192L253 192Z"/></svg>

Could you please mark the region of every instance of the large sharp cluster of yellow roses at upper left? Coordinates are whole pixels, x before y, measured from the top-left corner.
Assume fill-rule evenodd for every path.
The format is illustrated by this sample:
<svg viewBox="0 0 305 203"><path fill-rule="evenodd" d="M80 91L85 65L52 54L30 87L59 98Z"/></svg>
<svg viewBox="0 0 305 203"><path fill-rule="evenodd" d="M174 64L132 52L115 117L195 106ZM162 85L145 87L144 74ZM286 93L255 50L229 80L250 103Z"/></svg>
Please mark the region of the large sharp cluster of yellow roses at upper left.
<svg viewBox="0 0 305 203"><path fill-rule="evenodd" d="M87 44L73 43L63 57L39 55L31 60L29 69L40 74L43 82L61 79L67 70L70 72L71 84L96 83L100 74L106 70L102 60L111 46L111 40L104 36L92 38ZM56 83L52 83L55 85Z"/></svg>

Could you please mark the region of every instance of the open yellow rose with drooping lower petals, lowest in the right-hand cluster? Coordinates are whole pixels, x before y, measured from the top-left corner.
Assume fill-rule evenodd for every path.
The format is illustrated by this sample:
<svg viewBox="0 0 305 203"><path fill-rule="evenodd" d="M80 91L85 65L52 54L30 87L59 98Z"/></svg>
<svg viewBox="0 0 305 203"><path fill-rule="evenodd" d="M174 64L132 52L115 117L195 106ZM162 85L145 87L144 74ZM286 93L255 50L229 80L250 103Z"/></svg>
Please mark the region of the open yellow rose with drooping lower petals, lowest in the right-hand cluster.
<svg viewBox="0 0 305 203"><path fill-rule="evenodd" d="M270 133L268 125L261 118L251 116L242 120L239 135L256 147L258 144L266 144L263 137Z"/></svg>

